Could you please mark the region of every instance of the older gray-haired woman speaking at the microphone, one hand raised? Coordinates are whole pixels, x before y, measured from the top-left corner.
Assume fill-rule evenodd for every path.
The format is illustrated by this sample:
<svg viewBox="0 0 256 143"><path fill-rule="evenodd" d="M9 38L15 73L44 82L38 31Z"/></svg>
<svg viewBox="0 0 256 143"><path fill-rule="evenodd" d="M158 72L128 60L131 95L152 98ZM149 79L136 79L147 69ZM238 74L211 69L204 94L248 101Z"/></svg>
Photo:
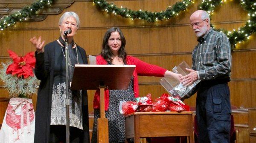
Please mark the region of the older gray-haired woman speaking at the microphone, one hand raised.
<svg viewBox="0 0 256 143"><path fill-rule="evenodd" d="M73 37L79 28L79 16L65 12L59 20L60 37L44 46L40 37L30 39L35 46L35 76L41 80L35 112L35 143L66 142L66 56L65 34L69 51L68 76L72 80L75 64L87 64L86 52ZM70 85L68 85L70 86ZM89 143L87 92L69 90L70 142Z"/></svg>

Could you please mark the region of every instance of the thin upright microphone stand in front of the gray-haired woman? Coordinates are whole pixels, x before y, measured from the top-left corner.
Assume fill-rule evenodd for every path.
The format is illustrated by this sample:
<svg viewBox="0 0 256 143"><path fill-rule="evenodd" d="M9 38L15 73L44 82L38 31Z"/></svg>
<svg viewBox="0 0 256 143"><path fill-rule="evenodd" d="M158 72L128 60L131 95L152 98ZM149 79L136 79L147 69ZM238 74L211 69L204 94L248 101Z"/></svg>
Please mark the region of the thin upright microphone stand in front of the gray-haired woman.
<svg viewBox="0 0 256 143"><path fill-rule="evenodd" d="M69 93L69 86L68 86L68 43L67 43L67 34L65 33L65 56L66 56L66 141L70 143L70 118L69 118L69 106L70 106L70 99L68 97Z"/></svg>

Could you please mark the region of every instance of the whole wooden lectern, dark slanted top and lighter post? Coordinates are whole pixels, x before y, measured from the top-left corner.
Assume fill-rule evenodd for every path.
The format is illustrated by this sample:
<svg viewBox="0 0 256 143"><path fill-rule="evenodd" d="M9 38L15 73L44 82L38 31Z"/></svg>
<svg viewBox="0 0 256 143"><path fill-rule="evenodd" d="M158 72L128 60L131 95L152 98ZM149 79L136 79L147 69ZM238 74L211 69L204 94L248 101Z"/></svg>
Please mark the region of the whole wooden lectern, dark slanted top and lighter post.
<svg viewBox="0 0 256 143"><path fill-rule="evenodd" d="M105 118L105 89L128 89L135 65L75 65L71 89L100 89L98 143L108 143L108 119Z"/></svg>

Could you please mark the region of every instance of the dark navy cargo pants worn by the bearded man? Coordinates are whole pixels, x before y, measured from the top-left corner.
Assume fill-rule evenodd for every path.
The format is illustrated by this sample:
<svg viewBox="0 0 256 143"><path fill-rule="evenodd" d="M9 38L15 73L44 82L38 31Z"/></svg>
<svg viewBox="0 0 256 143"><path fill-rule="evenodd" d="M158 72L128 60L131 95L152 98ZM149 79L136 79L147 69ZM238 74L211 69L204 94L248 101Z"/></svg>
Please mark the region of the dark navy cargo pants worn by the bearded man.
<svg viewBox="0 0 256 143"><path fill-rule="evenodd" d="M198 86L196 116L199 143L229 143L231 106L227 82L205 80Z"/></svg>

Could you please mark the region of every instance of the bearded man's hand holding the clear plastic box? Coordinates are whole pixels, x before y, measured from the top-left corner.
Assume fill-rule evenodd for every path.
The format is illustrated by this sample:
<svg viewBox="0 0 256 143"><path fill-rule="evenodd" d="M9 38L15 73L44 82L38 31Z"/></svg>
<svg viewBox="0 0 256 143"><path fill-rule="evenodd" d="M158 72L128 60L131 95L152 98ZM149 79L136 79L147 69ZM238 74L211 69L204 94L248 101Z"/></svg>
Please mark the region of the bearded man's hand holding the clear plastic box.
<svg viewBox="0 0 256 143"><path fill-rule="evenodd" d="M198 80L197 71L192 70L192 69L187 69L187 68L186 68L186 70L189 71L190 73L180 78L183 86L189 86L193 82L195 82L195 80Z"/></svg>

